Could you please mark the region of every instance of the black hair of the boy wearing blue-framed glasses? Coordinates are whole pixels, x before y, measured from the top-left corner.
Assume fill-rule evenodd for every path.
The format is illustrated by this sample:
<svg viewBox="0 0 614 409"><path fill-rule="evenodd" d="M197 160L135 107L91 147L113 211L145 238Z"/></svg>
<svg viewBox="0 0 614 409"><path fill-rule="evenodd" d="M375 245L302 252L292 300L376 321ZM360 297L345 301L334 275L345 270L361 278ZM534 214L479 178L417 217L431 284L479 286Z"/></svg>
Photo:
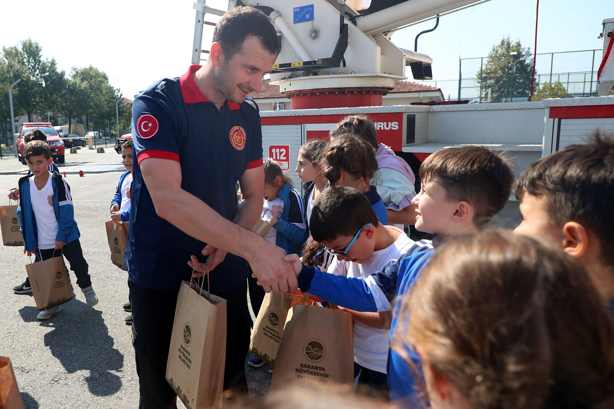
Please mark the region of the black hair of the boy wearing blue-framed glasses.
<svg viewBox="0 0 614 409"><path fill-rule="evenodd" d="M322 242L353 236L367 223L379 223L367 196L347 186L329 186L313 205L309 231L316 242Z"/></svg>

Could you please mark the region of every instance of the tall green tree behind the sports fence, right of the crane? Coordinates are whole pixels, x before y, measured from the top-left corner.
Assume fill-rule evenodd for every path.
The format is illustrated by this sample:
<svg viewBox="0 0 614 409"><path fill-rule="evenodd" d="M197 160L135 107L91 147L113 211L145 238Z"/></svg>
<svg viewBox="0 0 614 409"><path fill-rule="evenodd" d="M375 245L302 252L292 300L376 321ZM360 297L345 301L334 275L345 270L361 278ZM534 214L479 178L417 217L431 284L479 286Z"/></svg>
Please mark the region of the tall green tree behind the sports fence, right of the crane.
<svg viewBox="0 0 614 409"><path fill-rule="evenodd" d="M533 74L533 56L530 47L503 37L492 46L483 69L478 72L480 94L490 95L491 101L528 99Z"/></svg>

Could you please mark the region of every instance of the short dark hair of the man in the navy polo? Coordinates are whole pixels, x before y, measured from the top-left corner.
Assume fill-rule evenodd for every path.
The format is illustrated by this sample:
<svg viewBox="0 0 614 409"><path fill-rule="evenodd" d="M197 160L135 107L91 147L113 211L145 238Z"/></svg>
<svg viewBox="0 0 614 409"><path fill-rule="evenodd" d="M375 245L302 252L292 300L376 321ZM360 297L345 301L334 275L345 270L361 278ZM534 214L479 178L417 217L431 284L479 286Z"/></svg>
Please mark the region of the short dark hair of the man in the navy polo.
<svg viewBox="0 0 614 409"><path fill-rule="evenodd" d="M249 36L258 37L262 47L271 54L278 55L281 51L281 40L271 19L249 6L235 7L226 12L213 31L213 42L222 45L224 57L228 61L241 50Z"/></svg>

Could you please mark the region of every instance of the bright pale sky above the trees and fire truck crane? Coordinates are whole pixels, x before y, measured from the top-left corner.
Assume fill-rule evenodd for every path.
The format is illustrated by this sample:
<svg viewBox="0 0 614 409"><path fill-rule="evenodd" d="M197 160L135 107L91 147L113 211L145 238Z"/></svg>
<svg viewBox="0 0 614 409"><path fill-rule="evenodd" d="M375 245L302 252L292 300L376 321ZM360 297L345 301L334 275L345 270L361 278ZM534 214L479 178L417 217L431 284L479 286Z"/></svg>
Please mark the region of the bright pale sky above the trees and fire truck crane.
<svg viewBox="0 0 614 409"><path fill-rule="evenodd" d="M195 10L193 0L5 1L0 45L31 37L54 57L61 69L92 64L109 75L111 84L133 98L157 78L181 75L190 64ZM306 1L308 3L309 1ZM211 6L224 1L208 1ZM456 97L461 58L486 56L504 36L533 49L536 0L491 0L440 19L437 30L424 34L418 51L433 58L433 80L446 98ZM220 6L217 6L220 7ZM32 10L33 13L27 13ZM562 52L602 48L597 39L604 18L614 17L614 1L541 0L537 51ZM6 23L9 21L10 23ZM23 16L24 18L18 18ZM395 32L392 41L413 50L418 32L435 20ZM212 30L203 36L203 48ZM591 55L592 56L592 55ZM596 66L601 59L596 54ZM546 61L547 59L547 61ZM537 60L538 72L550 70L550 58ZM557 64L558 63L558 64ZM557 66L558 65L558 66ZM555 59L554 71L589 71L586 55ZM475 74L467 63L463 77ZM411 78L410 78L411 80Z"/></svg>

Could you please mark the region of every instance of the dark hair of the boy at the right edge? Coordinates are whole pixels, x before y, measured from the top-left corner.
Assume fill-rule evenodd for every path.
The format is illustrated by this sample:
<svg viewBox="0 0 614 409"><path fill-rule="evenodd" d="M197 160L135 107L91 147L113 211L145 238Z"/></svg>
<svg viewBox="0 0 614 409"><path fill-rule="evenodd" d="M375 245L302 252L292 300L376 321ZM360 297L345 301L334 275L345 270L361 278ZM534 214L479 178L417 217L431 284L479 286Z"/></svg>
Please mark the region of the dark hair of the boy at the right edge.
<svg viewBox="0 0 614 409"><path fill-rule="evenodd" d="M602 258L614 266L614 135L597 131L586 144L571 145L531 164L513 193L543 197L550 223L577 221L599 239Z"/></svg>

